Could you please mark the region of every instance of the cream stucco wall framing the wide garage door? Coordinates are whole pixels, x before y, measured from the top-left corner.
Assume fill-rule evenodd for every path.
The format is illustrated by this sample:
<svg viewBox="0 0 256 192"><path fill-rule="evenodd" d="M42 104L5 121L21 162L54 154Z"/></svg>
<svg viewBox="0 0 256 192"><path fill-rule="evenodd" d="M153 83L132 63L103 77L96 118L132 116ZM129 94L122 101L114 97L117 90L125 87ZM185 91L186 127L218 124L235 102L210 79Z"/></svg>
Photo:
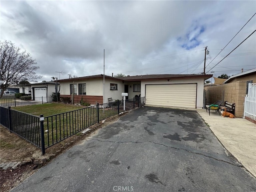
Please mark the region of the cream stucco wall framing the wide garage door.
<svg viewBox="0 0 256 192"><path fill-rule="evenodd" d="M154 80L154 81L141 81L141 97L145 96L146 85L148 84L183 84L183 83L197 83L197 95L196 95L196 108L203 108L204 101L204 79L195 78L195 79L178 79L171 80L170 82L166 80Z"/></svg>

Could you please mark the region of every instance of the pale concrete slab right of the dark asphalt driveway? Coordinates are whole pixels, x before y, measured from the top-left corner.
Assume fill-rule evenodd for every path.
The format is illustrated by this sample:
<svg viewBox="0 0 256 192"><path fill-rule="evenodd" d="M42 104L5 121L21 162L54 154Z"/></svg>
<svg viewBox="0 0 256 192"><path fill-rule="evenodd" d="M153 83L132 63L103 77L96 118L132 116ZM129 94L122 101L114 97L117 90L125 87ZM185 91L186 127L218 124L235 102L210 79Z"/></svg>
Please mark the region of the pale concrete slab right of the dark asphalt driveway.
<svg viewBox="0 0 256 192"><path fill-rule="evenodd" d="M256 177L256 124L244 118L222 118L218 112L197 109L223 146Z"/></svg>

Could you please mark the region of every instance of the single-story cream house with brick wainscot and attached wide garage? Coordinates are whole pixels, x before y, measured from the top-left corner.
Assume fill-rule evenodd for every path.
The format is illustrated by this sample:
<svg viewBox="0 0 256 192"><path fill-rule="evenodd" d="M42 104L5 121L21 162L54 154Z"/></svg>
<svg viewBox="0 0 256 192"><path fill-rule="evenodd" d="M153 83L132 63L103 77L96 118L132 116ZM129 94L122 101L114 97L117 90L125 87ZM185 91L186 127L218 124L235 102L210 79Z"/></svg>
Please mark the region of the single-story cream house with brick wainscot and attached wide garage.
<svg viewBox="0 0 256 192"><path fill-rule="evenodd" d="M104 90L102 74L63 79L58 82L62 97L71 98L74 89L75 103L79 103L82 97L91 104L107 103L108 98L122 100L121 94L126 92L129 99L135 96L145 97L146 105L202 108L204 80L211 77L212 74L138 75L120 78L105 76Z"/></svg>

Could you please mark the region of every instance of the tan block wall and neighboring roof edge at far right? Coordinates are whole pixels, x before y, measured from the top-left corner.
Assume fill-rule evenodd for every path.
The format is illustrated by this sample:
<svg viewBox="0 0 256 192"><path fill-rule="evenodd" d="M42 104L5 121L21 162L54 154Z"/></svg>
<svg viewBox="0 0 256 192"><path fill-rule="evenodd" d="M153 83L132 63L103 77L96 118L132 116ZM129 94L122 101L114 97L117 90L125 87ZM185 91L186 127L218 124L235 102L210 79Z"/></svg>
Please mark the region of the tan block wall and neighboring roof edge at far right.
<svg viewBox="0 0 256 192"><path fill-rule="evenodd" d="M236 104L235 116L244 115L244 97L248 93L248 84L256 83L256 68L233 75L218 86L205 86L206 102L213 103L217 100L228 101Z"/></svg>

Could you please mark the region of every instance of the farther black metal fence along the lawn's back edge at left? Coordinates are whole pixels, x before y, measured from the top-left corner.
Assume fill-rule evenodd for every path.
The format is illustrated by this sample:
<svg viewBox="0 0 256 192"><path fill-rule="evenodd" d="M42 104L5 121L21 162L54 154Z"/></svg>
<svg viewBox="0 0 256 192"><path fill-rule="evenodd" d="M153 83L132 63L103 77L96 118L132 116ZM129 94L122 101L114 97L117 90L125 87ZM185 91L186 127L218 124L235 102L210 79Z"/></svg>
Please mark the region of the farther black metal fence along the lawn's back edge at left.
<svg viewBox="0 0 256 192"><path fill-rule="evenodd" d="M34 104L44 104L52 103L52 97L36 97L34 100L22 100L15 97L5 97L0 99L0 106L22 106L22 105L34 105Z"/></svg>

